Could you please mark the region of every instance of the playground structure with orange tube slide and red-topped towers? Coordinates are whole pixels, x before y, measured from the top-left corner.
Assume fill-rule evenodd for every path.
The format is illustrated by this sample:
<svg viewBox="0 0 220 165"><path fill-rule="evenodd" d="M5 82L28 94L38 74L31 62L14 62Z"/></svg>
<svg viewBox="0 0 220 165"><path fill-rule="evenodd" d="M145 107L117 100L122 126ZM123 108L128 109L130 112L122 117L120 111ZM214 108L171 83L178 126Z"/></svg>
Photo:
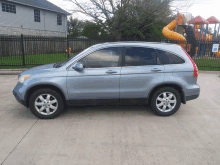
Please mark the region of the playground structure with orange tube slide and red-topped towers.
<svg viewBox="0 0 220 165"><path fill-rule="evenodd" d="M218 19L214 16L208 18L207 20L203 19L201 16L193 18L189 13L178 13L177 18L165 26L162 30L162 33L165 37L179 41L179 45L187 50L192 57L197 53L197 57L204 57L207 42L210 41L212 45L218 43L220 24L218 32L216 30L217 24L220 23ZM214 34L208 34L209 24L215 24ZM206 25L206 29L204 27ZM183 34L177 33L177 26L182 26L184 28ZM175 31L173 31L175 28ZM186 34L186 38L184 37ZM213 37L214 36L214 37ZM203 42L202 42L203 41ZM220 50L214 53L217 56L220 56ZM213 52L210 54L213 55Z"/></svg>

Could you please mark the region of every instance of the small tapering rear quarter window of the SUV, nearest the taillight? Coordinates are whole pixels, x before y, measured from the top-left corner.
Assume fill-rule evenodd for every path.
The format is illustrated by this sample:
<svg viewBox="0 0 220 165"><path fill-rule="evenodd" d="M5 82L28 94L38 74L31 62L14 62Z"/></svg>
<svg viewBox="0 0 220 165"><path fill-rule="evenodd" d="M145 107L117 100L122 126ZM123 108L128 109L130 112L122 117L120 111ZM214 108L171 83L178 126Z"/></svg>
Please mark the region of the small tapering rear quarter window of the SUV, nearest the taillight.
<svg viewBox="0 0 220 165"><path fill-rule="evenodd" d="M183 64L185 61L181 58L178 57L177 55L166 52L163 50L157 50L159 53L159 57L161 59L162 64Z"/></svg>

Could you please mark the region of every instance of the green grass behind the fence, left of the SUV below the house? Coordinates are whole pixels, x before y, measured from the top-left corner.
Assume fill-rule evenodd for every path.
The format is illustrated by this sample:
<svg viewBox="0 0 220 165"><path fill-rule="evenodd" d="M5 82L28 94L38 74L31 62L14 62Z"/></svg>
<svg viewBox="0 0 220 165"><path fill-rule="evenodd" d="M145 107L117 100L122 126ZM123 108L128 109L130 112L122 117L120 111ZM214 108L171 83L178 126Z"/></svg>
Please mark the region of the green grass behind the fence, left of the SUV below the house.
<svg viewBox="0 0 220 165"><path fill-rule="evenodd" d="M31 68L37 66L38 64L50 64L50 63L62 62L65 61L66 59L67 59L67 53L25 55L25 66L2 66L2 65L22 65L23 57L22 56L1 57L0 69Z"/></svg>

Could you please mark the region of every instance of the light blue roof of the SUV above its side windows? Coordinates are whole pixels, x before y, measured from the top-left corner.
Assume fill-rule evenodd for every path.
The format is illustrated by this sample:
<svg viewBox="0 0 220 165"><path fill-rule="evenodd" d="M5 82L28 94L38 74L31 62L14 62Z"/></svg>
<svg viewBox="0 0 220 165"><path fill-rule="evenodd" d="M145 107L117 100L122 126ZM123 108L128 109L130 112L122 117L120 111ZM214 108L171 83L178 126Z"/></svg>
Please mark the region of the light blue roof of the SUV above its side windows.
<svg viewBox="0 0 220 165"><path fill-rule="evenodd" d="M170 43L160 43L160 42L141 42L141 41L126 41L126 42L106 42L101 44L96 44L91 46L93 49L100 49L104 47L111 47L111 46L140 46L140 47L150 47L150 48L156 48L156 49L162 49L162 50L168 50L175 53L179 53L181 50L181 46L176 44L170 44Z"/></svg>

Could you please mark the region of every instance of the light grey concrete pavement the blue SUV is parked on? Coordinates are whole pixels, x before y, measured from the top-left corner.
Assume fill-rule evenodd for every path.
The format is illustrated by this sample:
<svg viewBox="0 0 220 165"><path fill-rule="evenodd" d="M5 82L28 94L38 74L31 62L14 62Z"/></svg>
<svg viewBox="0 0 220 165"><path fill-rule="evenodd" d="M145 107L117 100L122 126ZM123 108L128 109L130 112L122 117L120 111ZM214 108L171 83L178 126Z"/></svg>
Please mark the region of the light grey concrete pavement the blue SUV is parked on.
<svg viewBox="0 0 220 165"><path fill-rule="evenodd" d="M199 72L201 95L170 117L144 107L69 108L38 120L0 76L0 164L219 165L220 72Z"/></svg>

